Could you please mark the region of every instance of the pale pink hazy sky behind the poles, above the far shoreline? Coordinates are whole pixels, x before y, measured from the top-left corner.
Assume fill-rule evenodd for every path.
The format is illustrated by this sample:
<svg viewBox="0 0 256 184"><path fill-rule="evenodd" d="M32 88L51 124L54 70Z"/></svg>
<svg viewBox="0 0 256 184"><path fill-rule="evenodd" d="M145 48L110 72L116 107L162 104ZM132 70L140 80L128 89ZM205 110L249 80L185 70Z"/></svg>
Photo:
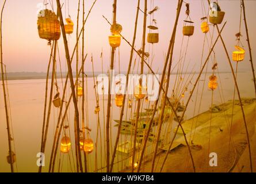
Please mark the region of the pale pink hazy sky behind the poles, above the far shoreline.
<svg viewBox="0 0 256 184"><path fill-rule="evenodd" d="M86 14L94 0L86 0ZM3 0L1 0L2 6ZM37 4L43 2L42 0L7 0L3 17L3 59L7 66L8 72L18 71L36 71L45 72L47 70L48 57L50 53L50 47L47 45L47 40L40 39L37 33ZM67 12L67 0L66 6L63 6L63 14L68 16ZM204 17L202 13L201 0L186 0L190 3L190 17L195 22L194 35L190 37L188 55L186 57L187 63L190 63L190 69L194 64L196 68L200 66L200 58L202 53L202 43L204 34L200 30L200 18ZM90 17L86 23L86 53L94 56L95 71L101 71L100 53L103 48L104 51L104 70L106 71L109 66L110 46L108 44L108 36L110 34L110 26L102 18L104 15L111 20L112 18L112 0L98 0L90 14ZM154 3L154 5L152 4ZM204 0L205 7L208 9L207 1ZM253 48L253 56L255 56L256 47L256 25L255 25L255 7L256 1L245 1L247 23L249 26L249 34L251 47ZM70 16L75 23L77 18L78 0L70 0ZM240 1L220 1L219 4L223 11L226 11L224 21L227 21L226 28L223 30L224 41L226 41L228 52L230 56L234 50L235 33L239 32L239 18L240 18ZM174 0L148 0L148 10L152 7L158 6L159 10L155 12L154 18L157 21L159 28L159 43L154 44L154 62L152 64L154 70L161 71L163 67L163 56L167 52L171 31L175 21L177 1ZM122 34L132 41L133 29L135 22L137 1L136 0L117 0L117 22L123 25ZM48 5L48 8L51 8ZM54 1L54 8L56 10L56 4ZM140 8L144 9L144 1L141 0ZM65 10L66 9L66 10ZM65 12L66 11L66 12ZM175 41L174 49L174 62L177 62L179 58L179 50L181 48L182 41L182 25L185 19L185 4L182 7L181 16L178 22L177 38ZM223 22L224 22L223 21ZM80 21L81 24L81 21ZM147 24L150 25L150 16L147 17ZM137 29L136 49L141 47L142 43L142 25L143 25L143 13L139 14L139 22ZM210 28L213 29L213 26ZM246 33L244 32L244 24L242 24L242 41L246 51ZM147 29L148 32L148 29ZM216 37L216 36L215 36ZM188 37L184 37L184 43L186 44ZM75 32L69 37L70 52L74 48ZM215 38L213 39L215 40ZM185 47L185 44L183 48ZM146 45L148 51L149 44ZM59 40L60 57L62 60L62 68L65 70L66 61L64 60L63 40ZM120 46L120 63L121 71L127 70L129 62L130 47L124 40L122 40ZM205 52L205 55L208 53ZM117 55L116 55L117 56ZM219 70L228 71L228 64L223 47L219 41L216 45L217 63L219 64ZM116 57L117 58L117 57ZM255 57L254 57L255 59ZM117 62L117 60L116 60ZM234 63L234 62L233 62ZM86 60L86 71L91 71L91 63L89 57ZM116 70L118 65L116 63ZM246 59L239 64L239 69L243 71L250 71L249 53L246 52ZM59 70L59 65L58 65Z"/></svg>

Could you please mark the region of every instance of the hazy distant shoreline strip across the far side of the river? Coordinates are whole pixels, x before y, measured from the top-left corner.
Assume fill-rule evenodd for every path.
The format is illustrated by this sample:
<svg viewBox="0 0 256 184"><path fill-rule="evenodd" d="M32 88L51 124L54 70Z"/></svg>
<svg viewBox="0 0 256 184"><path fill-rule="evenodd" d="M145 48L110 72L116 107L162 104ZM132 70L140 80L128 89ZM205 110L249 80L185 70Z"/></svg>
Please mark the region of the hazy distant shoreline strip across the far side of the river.
<svg viewBox="0 0 256 184"><path fill-rule="evenodd" d="M244 71L240 71L239 73L243 73ZM205 73L205 72L204 72ZM208 74L211 74L211 72L207 72ZM231 73L231 72L219 72L220 74L227 74L227 73ZM1 73L0 73L1 74ZM102 74L102 72L95 72L95 76ZM106 73L104 73L106 74ZM121 74L125 74L125 72L121 72ZM187 73L190 74L190 73ZM198 72L196 73L198 74ZM18 81L18 80L32 80L32 79L46 79L46 75L47 73L45 72L9 72L7 73L7 80L8 81ZM60 73L58 72L56 74L56 78L60 79L60 78L66 78L66 73L63 73L62 75L60 75ZM75 72L73 72L73 75L75 76ZM93 73L92 72L87 72L86 75L88 77L93 77ZM159 75L161 75L161 73L159 73ZM177 73L171 74L171 75L177 75ZM51 73L49 74L49 76L51 77Z"/></svg>

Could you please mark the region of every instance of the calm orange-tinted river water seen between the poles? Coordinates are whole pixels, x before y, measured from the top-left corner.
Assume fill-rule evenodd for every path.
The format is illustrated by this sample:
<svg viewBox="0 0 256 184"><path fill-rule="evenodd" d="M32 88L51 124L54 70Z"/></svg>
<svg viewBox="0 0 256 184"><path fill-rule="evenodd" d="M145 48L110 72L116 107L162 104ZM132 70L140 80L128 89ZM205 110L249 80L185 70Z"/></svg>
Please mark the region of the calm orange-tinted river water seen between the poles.
<svg viewBox="0 0 256 184"><path fill-rule="evenodd" d="M209 106L211 106L211 94L212 91L207 89L208 76L211 74L207 74L207 81L205 82L205 90L202 95L202 104L201 111L208 110ZM170 79L170 87L173 87L175 81L175 75L171 75ZM194 80L192 80L193 83ZM219 88L215 90L213 103L221 104L228 99L232 99L232 94L234 91L234 82L232 79L232 75L230 73L220 74L220 78L218 79ZM13 122L13 132L14 132L14 140L16 147L16 156L17 156L17 167L19 172L37 172L38 167L36 165L36 155L37 152L40 152L41 145L41 128L43 123L43 110L44 110L44 95L45 95L45 79L36 79L36 80L24 80L24 81L8 81L9 83L9 95L10 95L10 104L12 108L12 122ZM49 81L51 83L51 81ZM198 90L197 97L201 97L201 89L203 80L200 80L200 87ZM253 90L253 82L251 81L250 75L247 73L239 73L238 74L238 85L240 88L240 93L242 97L254 97ZM59 79L59 86L61 86L61 80ZM222 86L222 90L221 90ZM184 99L188 98L189 91L192 89L192 85L188 87L188 91L184 94ZM62 95L60 87L60 94ZM94 114L94 108L96 106L95 102L95 94L93 89L93 79L88 79L88 112L89 112L89 128L92 129L90 136L91 139L95 141L96 132L97 132L97 116ZM7 131L6 131L6 119L5 119L5 107L2 98L2 85L0 87L1 97L0 97L0 172L9 172L10 166L7 164L6 156L8 152L8 142L7 142ZM49 90L49 88L48 88ZM195 94L196 94L195 90ZM67 93L70 93L71 90L68 89ZM190 118L193 116L193 113L197 114L197 110L194 112L194 106L196 100L196 95L193 95L192 101L189 104L188 110L186 112L186 118ZM104 99L105 98L105 99ZM103 101L104 99L104 101ZM100 122L101 122L101 136L103 141L103 108L102 103L107 103L107 96L103 97L100 95ZM112 96L112 100L114 96ZM152 102L151 102L152 104ZM198 109L198 102L196 105L196 109ZM71 103L71 108L68 112L68 119L70 121L70 131L73 135L74 133L74 106ZM81 99L79 100L79 106L81 109ZM145 107L145 106L144 106ZM116 106L114 106L114 101L112 101L112 120L119 119L120 110ZM126 111L125 111L126 112ZM80 112L81 113L81 112ZM105 113L106 116L106 113ZM54 129L56 126L56 121L58 117L58 109L52 106L51 120L49 125L47 146L46 146L46 160L45 167L43 171L48 171L48 163L49 163L49 155L51 154L52 140L54 139ZM129 114L124 115L124 120L129 120ZM114 127L114 122L112 121L112 144L114 144L114 139L116 137L117 128ZM71 139L74 141L74 137L71 136ZM124 141L124 140L123 140ZM102 143L103 144L103 143ZM113 145L112 145L113 147ZM102 147L102 150L104 147ZM73 147L74 150L74 147ZM73 151L74 152L74 151ZM94 170L94 152L89 156L89 168L90 171ZM110 154L111 155L111 154ZM70 154L72 157L72 154ZM119 159L122 155L119 155ZM98 168L100 167L101 159L105 159L105 155L101 155L100 145L98 147ZM74 166L72 166L72 170L69 166L68 156L64 155L63 163L60 163L62 166L62 171L74 171ZM71 160L71 162L73 162ZM59 164L59 155L56 159L56 164ZM71 163L72 165L73 163ZM57 171L58 167L55 167L55 171Z"/></svg>

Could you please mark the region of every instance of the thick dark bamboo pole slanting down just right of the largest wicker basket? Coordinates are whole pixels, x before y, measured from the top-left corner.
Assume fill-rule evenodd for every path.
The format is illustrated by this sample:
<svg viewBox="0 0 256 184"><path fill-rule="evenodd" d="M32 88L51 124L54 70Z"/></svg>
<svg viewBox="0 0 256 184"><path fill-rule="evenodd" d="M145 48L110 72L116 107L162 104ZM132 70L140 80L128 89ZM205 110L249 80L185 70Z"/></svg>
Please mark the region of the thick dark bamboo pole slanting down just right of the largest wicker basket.
<svg viewBox="0 0 256 184"><path fill-rule="evenodd" d="M64 22L63 22L63 16L62 16L62 10L60 6L60 1L56 0L57 6L58 6L58 13L60 17L60 26L62 28L62 36L63 36L63 41L64 41L64 47L65 47L65 52L66 52L66 59L67 59L67 66L68 66L68 73L69 73L69 78L70 78L70 85L71 85L71 90L72 90L72 98L74 102L74 108L75 108L75 117L77 120L77 135L79 135L79 112L78 112L78 105L77 105L77 98L75 97L75 86L74 86L74 81L73 81L73 74L72 74L72 67L71 67L71 60L70 60L70 53L68 51L68 44L67 44L67 37L66 37L66 32L64 28ZM77 137L77 147L79 147L79 137ZM78 151L78 159L79 159L79 166L80 166L80 171L81 173L83 172L83 166L82 166L82 159L81 159L81 152Z"/></svg>

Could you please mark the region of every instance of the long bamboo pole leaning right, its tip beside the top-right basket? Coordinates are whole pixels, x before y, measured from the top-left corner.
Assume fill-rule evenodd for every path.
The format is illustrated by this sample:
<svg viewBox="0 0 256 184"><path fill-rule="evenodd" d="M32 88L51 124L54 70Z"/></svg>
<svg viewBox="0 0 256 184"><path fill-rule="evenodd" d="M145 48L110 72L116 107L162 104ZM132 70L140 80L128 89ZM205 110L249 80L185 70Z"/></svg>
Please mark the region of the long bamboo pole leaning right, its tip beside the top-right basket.
<svg viewBox="0 0 256 184"><path fill-rule="evenodd" d="M223 30L224 26L226 25L226 23L227 23L227 22L225 22L225 24L224 24L223 27L221 28L220 33L222 32L222 30ZM192 91L191 91L191 93L190 93L190 95L189 95L188 101L186 102L184 112L183 112L182 115L181 115L181 120L182 120L182 118L184 117L184 114L185 114L185 112L186 112L186 109L188 108L190 99L192 98L192 95L193 95L193 93L194 93L194 89L196 89L197 83L198 83L198 81L200 80L201 74L202 74L202 72L204 71L204 68L205 68L205 66L206 66L206 64L207 64L207 62L208 62L208 60L209 60L209 57L211 56L211 53L212 53L213 49L215 48L215 45L216 45L217 41L219 40L219 37L220 37L220 34L217 36L215 43L212 45L212 48L211 48L211 50L209 51L209 54L208 54L208 56L207 56L207 59L205 60L204 64L202 65L202 68L201 68L201 70L200 70L200 73L198 74L197 79L196 79L196 82L194 83L193 89L192 89ZM181 124L178 125L177 130L176 130L175 133L174 133L173 139L171 140L171 143L170 143L170 145L169 145L169 148L168 148L168 150L167 150L167 152L166 152L165 159L163 160L163 163L162 163L160 172L162 171L163 166L165 165L165 162L166 162L167 157L168 157L168 155L169 155L169 152L170 152L170 150L171 150L171 145L173 145L173 141L174 141L174 139L175 139L175 137L176 137L176 135L177 135L177 132L178 132L178 128L179 128L179 127L181 127ZM181 127L181 128L182 128L182 127ZM182 132L185 133L183 129L182 129ZM190 156L191 156L191 155L190 155Z"/></svg>

